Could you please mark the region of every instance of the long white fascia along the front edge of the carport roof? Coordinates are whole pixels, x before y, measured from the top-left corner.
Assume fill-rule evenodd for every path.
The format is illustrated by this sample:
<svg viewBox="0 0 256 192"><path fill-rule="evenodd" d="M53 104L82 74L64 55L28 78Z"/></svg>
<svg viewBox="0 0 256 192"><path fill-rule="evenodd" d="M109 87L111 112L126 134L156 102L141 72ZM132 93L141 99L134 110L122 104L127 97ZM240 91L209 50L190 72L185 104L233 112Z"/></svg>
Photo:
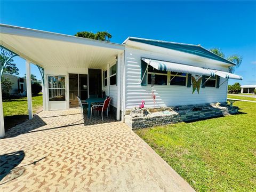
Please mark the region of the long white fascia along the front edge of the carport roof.
<svg viewBox="0 0 256 192"><path fill-rule="evenodd" d="M95 39L76 37L49 31L30 29L25 27L11 26L0 23L0 33L9 35L20 35L34 38L52 39L55 41L65 41L70 43L86 44L92 46L106 47L109 49L124 50L124 45L118 43L104 42Z"/></svg>

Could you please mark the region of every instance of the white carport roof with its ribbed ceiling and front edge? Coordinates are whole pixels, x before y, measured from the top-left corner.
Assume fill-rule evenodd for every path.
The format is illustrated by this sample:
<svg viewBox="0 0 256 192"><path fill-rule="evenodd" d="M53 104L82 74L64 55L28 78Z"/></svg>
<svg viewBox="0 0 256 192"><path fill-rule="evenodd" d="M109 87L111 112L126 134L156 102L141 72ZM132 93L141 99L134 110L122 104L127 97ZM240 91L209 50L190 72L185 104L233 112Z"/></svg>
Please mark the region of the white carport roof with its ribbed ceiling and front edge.
<svg viewBox="0 0 256 192"><path fill-rule="evenodd" d="M124 45L0 24L0 43L45 67L101 68L124 51Z"/></svg>

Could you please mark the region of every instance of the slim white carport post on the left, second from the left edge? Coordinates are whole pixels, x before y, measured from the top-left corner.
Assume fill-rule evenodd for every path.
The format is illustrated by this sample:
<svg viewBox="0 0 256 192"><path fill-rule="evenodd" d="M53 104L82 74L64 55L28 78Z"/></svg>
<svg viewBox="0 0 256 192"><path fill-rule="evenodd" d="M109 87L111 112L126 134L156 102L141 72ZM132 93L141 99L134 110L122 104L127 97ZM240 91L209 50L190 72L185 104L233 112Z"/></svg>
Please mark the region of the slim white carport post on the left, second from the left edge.
<svg viewBox="0 0 256 192"><path fill-rule="evenodd" d="M27 99L28 99L28 119L33 118L32 109L32 92L31 92L31 77L30 77L30 61L26 60L26 82L27 82Z"/></svg>

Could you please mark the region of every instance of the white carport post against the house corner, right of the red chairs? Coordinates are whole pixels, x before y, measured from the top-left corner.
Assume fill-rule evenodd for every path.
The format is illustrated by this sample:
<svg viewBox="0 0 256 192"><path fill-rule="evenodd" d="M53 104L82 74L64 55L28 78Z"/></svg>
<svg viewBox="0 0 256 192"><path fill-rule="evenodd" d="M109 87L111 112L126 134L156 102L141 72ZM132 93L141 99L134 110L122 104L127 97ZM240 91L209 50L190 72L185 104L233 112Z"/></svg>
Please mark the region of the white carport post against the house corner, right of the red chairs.
<svg viewBox="0 0 256 192"><path fill-rule="evenodd" d="M120 106L121 106L121 54L117 54L117 106L116 106L116 120L120 120Z"/></svg>

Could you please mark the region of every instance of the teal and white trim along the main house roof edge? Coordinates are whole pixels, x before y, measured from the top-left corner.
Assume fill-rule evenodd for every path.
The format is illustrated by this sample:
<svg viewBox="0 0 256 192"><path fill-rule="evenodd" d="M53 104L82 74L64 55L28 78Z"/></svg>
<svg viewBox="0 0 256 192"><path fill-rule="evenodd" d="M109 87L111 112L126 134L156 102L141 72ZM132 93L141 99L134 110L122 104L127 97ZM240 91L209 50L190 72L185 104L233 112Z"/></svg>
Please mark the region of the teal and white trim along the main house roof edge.
<svg viewBox="0 0 256 192"><path fill-rule="evenodd" d="M180 51L180 50L176 50L176 51L180 51L180 52L185 52L185 53L189 53L189 54L194 54L194 55L197 55L199 57L204 57L204 58L208 58L208 59L212 59L212 60L217 60L217 61L221 61L221 62L225 62L225 63L228 63L228 64L231 64L231 65L236 65L235 63L225 59L225 58L222 58L220 57L219 55L205 49L203 46L201 45L194 45L194 44L186 44L186 43L176 43L176 42L167 42L167 41L159 41L159 40L155 40L155 39L146 39L146 38L138 38L138 37L128 37L125 39L125 41L123 42L123 44L126 44L128 41L135 41L135 42L139 42L139 41L148 41L148 42L156 42L156 43L165 43L165 44L175 44L175 45L187 45L187 46L194 46L194 47L200 47L201 49L203 49L204 51L207 51L209 52L210 54L213 54L216 58L219 58L219 59L214 59L212 57L204 57L203 55L199 55L199 54L195 54L195 53L189 53L189 52L185 52L185 51ZM143 43L143 42L139 42L139 43ZM152 44L149 44L149 45L152 45ZM158 45L153 45L153 46L158 46ZM161 46L162 47L162 46ZM168 48L168 47L165 47L163 46L163 48L166 48L166 49L171 49L171 48ZM174 49L173 49L174 50Z"/></svg>

